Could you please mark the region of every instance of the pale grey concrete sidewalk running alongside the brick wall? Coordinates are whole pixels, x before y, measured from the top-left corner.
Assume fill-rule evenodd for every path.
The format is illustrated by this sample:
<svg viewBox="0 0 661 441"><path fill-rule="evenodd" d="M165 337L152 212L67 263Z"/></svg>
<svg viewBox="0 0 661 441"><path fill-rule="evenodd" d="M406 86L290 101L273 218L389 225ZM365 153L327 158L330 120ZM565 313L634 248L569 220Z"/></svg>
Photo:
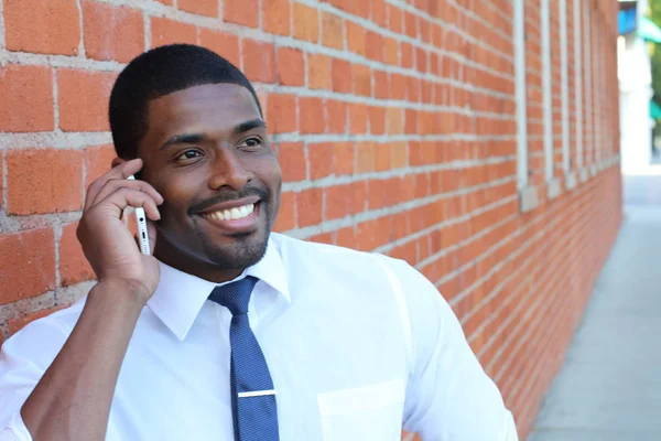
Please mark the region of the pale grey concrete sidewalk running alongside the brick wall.
<svg viewBox="0 0 661 441"><path fill-rule="evenodd" d="M625 178L625 220L530 441L661 440L661 172Z"/></svg>

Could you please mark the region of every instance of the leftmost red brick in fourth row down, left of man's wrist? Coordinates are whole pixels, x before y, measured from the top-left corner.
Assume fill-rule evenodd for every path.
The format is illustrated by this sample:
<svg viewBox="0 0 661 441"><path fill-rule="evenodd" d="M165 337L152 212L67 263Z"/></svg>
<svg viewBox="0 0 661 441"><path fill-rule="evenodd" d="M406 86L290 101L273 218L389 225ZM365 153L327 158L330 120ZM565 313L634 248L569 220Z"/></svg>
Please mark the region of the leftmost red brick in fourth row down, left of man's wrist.
<svg viewBox="0 0 661 441"><path fill-rule="evenodd" d="M51 228L0 235L0 304L55 288L54 240Z"/></svg>

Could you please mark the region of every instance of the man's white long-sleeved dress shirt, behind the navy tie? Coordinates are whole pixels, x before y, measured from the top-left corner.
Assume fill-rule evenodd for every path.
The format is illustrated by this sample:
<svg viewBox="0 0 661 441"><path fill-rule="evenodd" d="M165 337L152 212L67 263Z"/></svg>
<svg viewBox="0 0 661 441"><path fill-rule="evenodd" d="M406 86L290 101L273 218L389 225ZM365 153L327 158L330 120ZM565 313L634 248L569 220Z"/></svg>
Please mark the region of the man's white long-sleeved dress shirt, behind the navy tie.
<svg viewBox="0 0 661 441"><path fill-rule="evenodd" d="M282 441L516 441L511 413L452 309L415 269L381 255L272 234L249 320L277 390ZM229 311L215 283L161 266L123 361L106 440L232 441ZM85 298L9 338L0 440L31 440L20 408Z"/></svg>

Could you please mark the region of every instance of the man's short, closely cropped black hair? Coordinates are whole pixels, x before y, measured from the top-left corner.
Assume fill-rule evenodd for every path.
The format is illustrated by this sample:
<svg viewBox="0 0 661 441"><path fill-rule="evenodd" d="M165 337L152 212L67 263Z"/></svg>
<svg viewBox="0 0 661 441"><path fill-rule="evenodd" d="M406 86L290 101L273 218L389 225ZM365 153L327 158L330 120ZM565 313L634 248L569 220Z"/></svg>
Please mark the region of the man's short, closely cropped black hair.
<svg viewBox="0 0 661 441"><path fill-rule="evenodd" d="M133 58L119 74L108 117L117 155L138 157L138 144L148 130L148 105L152 99L203 84L230 83L246 87L263 116L254 88L229 61L193 44L170 44Z"/></svg>

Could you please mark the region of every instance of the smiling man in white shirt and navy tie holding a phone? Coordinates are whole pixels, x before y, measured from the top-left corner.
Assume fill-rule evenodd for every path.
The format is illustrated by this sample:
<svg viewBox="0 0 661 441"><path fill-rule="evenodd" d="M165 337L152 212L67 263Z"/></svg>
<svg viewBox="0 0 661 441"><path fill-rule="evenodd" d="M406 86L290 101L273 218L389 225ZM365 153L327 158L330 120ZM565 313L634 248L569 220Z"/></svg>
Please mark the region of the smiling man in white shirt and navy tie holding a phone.
<svg viewBox="0 0 661 441"><path fill-rule="evenodd" d="M0 439L517 439L432 283L270 233L280 166L236 67L152 50L119 75L109 116L119 159L78 229L98 283L4 343ZM129 206L151 220L153 256Z"/></svg>

